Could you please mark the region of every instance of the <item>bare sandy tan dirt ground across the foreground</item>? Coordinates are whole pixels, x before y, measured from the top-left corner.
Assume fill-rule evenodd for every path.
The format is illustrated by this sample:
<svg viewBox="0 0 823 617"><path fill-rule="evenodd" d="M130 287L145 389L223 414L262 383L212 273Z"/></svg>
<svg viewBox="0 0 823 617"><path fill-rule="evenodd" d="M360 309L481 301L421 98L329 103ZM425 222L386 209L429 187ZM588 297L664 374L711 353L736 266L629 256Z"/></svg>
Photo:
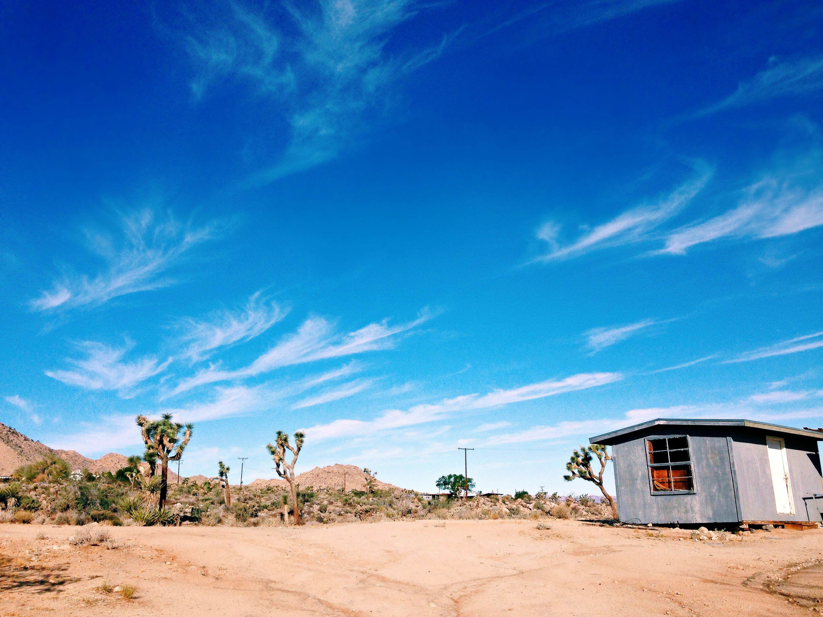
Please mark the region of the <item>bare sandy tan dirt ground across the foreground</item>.
<svg viewBox="0 0 823 617"><path fill-rule="evenodd" d="M528 521L107 527L126 545L108 550L69 545L77 529L0 526L0 615L751 616L823 606L823 530L721 543L576 521L546 531ZM104 582L137 593L124 600L100 591Z"/></svg>

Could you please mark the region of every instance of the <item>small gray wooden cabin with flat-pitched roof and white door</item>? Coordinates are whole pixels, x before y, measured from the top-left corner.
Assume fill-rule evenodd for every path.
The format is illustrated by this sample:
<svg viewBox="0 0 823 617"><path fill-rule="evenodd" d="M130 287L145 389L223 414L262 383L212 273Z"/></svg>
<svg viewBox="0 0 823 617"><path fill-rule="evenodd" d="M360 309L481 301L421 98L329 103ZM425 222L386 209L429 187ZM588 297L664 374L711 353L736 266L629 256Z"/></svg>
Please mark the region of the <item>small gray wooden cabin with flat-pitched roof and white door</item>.
<svg viewBox="0 0 823 617"><path fill-rule="evenodd" d="M622 522L821 522L823 433L751 420L649 420L611 446Z"/></svg>

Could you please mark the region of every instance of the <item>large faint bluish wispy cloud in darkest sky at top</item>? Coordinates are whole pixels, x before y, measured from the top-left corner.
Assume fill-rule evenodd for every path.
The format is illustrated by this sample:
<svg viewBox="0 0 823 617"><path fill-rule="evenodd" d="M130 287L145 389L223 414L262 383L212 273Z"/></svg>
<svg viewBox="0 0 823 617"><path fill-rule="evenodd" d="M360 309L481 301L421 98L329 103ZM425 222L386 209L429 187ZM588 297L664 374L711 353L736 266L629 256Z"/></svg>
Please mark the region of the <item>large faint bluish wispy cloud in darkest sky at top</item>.
<svg viewBox="0 0 823 617"><path fill-rule="evenodd" d="M196 95L221 77L237 77L287 118L286 150L258 183L336 158L379 118L398 80L437 58L453 37L388 53L398 26L423 8L412 0L226 7L219 19L193 23L184 43L200 69Z"/></svg>

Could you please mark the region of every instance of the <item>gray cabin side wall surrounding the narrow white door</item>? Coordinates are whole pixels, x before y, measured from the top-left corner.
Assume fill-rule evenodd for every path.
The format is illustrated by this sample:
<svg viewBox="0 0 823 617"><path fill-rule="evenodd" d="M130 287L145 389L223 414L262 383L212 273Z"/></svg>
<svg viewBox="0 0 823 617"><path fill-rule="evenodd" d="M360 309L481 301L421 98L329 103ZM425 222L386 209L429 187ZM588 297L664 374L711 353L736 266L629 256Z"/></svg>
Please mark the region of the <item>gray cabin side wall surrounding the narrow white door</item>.
<svg viewBox="0 0 823 617"><path fill-rule="evenodd" d="M788 477L791 480L794 514L779 514L774 501L767 432L732 429L732 457L737 471L737 490L743 521L816 521L821 522L823 493L821 463L815 439L775 433L786 443Z"/></svg>

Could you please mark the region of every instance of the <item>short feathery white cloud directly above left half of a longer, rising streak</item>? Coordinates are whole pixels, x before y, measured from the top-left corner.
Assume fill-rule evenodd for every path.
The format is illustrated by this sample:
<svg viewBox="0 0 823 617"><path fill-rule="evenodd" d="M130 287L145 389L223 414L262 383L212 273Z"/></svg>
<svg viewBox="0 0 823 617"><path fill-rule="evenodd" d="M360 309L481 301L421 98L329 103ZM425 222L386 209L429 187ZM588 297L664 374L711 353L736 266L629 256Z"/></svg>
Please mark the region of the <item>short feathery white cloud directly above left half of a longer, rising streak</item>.
<svg viewBox="0 0 823 617"><path fill-rule="evenodd" d="M203 321L184 320L180 341L188 343L185 354L191 360L202 360L216 349L260 336L288 312L288 308L281 308L258 291L240 310L216 311Z"/></svg>

